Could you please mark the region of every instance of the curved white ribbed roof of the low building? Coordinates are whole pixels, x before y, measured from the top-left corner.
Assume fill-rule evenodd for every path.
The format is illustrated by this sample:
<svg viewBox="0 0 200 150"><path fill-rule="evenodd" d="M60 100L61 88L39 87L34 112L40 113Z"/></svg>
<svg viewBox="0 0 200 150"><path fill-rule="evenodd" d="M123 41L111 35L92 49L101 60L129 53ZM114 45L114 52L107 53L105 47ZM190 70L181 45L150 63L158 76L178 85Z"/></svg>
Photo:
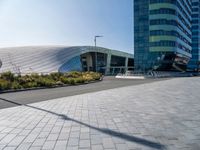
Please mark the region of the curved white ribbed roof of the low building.
<svg viewBox="0 0 200 150"><path fill-rule="evenodd" d="M26 46L0 48L2 67L0 72L21 73L57 72L59 67L75 56L86 52L98 51L116 56L133 58L133 54L93 46Z"/></svg>

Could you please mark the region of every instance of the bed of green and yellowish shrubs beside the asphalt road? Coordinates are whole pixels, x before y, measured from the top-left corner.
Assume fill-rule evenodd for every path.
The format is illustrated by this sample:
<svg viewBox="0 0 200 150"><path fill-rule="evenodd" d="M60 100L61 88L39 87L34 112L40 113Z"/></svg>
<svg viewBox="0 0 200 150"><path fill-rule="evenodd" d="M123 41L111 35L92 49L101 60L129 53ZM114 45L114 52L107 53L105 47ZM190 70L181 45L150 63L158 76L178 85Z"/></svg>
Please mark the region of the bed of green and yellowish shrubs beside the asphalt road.
<svg viewBox="0 0 200 150"><path fill-rule="evenodd" d="M0 90L21 89L33 87L52 87L55 85L75 85L99 80L101 74L95 72L69 72L38 75L36 73L25 76L14 76L11 72L0 74Z"/></svg>

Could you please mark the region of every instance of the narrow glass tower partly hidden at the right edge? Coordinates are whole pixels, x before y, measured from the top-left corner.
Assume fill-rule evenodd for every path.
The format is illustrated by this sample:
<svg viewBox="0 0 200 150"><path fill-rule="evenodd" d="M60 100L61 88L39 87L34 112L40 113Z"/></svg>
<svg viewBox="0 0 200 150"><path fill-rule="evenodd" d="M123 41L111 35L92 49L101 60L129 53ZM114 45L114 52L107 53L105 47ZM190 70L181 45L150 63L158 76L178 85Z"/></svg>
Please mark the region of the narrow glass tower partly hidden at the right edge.
<svg viewBox="0 0 200 150"><path fill-rule="evenodd" d="M200 0L192 0L192 59L188 70L195 71L200 61Z"/></svg>

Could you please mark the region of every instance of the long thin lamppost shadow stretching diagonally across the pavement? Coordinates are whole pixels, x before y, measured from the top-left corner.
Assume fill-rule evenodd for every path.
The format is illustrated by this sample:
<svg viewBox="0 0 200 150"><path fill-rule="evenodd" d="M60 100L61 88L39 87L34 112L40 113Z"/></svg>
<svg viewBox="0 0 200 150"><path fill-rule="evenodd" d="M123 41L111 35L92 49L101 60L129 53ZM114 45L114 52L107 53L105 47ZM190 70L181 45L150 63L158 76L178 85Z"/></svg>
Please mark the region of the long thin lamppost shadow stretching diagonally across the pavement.
<svg viewBox="0 0 200 150"><path fill-rule="evenodd" d="M128 135L128 134L125 134L125 133L113 131L113 130L106 129L106 128L98 128L98 127L95 127L95 126L91 126L91 125L89 125L87 123L84 123L84 122L81 122L79 120L70 118L70 117L68 117L68 116L66 116L64 114L58 114L58 113L55 113L55 112L52 112L52 111L49 111L49 110L46 110L46 109L38 108L38 107L27 105L27 104L23 105L23 104L20 104L20 103L17 103L17 102L13 102L11 100L7 100L7 99L4 99L4 98L0 98L0 100L5 101L5 102L9 102L9 103L12 103L12 104L15 104L15 105L18 105L18 106L26 106L26 107L29 107L29 108L33 108L33 109L37 109L37 110L40 110L40 111L44 111L44 112L50 113L52 115L59 116L64 120L76 122L78 124L84 125L84 126L89 127L91 129L94 129L94 130L97 130L99 132L108 134L110 136L114 136L114 137L118 137L118 138L124 139L126 141L135 142L137 144L141 144L141 145L144 145L144 146L147 146L147 147L151 147L151 148L154 148L154 149L159 149L159 150L167 149L166 146L164 146L164 145L162 145L160 143L156 143L156 142L153 142L153 141L150 141L150 140L146 140L146 139L143 139L143 138L138 138L138 137L135 137L135 136L131 136L131 135Z"/></svg>

